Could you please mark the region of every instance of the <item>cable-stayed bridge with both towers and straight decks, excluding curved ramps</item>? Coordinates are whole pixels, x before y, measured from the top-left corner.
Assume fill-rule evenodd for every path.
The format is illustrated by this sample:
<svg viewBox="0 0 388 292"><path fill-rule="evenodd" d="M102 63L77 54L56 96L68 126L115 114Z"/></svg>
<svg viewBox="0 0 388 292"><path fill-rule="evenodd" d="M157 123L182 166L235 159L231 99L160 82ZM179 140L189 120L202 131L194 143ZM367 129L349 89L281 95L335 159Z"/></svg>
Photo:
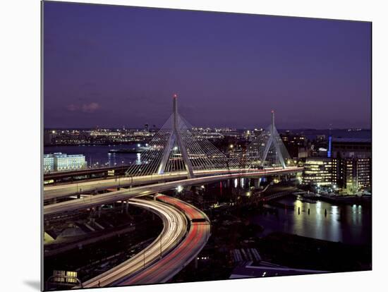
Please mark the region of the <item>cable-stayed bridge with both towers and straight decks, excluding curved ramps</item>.
<svg viewBox="0 0 388 292"><path fill-rule="evenodd" d="M284 147L274 124L274 111L268 128L230 158L178 114L178 97L174 95L171 116L149 142L147 151L140 154L140 160L128 168L125 177L49 186L44 188L44 200L142 185L121 194L132 197L141 195L140 190L145 193L145 185L149 185L147 190L159 192L167 186L174 188L172 185L178 183L195 185L237 177L293 174L301 170L293 165ZM176 183L171 184L171 181Z"/></svg>

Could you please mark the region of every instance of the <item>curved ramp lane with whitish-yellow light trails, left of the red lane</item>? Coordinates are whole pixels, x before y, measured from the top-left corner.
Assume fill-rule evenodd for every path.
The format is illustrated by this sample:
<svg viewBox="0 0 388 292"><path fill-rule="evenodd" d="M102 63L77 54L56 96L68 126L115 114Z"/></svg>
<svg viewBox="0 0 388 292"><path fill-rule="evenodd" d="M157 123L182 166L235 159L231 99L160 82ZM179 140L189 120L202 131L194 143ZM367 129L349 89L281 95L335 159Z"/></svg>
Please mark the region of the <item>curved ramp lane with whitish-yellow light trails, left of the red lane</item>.
<svg viewBox="0 0 388 292"><path fill-rule="evenodd" d="M128 278L159 260L161 254L169 253L186 235L188 221L183 212L175 207L154 200L133 199L130 204L149 209L157 214L163 221L162 233L145 250L109 271L86 281L83 283L83 288L111 286L117 281Z"/></svg>

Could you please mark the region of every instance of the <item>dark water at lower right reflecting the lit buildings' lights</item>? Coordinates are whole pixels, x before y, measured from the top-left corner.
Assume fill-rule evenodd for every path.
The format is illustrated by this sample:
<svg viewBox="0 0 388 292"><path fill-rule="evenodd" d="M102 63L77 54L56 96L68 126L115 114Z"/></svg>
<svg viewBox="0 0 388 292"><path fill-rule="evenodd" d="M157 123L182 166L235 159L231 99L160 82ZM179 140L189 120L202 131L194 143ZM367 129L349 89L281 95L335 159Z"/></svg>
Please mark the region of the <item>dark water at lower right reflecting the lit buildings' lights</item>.
<svg viewBox="0 0 388 292"><path fill-rule="evenodd" d="M321 201L312 204L294 198L286 198L278 202L293 205L294 209L277 207L278 214L255 215L253 222L265 228L262 235L281 231L325 241L351 244L372 242L371 209L368 206L333 205Z"/></svg>

